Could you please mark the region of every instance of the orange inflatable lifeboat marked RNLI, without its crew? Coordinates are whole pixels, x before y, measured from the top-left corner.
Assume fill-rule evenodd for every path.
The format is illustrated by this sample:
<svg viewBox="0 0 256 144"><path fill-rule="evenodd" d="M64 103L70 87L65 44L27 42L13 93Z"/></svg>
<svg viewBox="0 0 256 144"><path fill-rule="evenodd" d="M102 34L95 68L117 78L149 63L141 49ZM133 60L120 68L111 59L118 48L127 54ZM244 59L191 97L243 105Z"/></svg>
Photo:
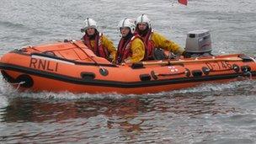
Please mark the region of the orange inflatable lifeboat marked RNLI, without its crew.
<svg viewBox="0 0 256 144"><path fill-rule="evenodd" d="M20 90L141 94L254 78L256 61L232 54L115 65L95 56L83 41L71 40L9 51L1 57L0 69Z"/></svg>

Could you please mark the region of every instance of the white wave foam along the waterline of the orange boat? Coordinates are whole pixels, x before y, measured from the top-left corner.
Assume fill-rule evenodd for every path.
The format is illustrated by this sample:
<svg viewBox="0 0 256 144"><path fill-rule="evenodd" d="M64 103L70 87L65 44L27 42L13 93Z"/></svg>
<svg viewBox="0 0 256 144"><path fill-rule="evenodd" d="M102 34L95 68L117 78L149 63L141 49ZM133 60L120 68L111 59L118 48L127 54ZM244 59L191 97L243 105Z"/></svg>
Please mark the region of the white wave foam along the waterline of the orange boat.
<svg viewBox="0 0 256 144"><path fill-rule="evenodd" d="M253 84L254 83L254 84ZM214 91L225 91L227 89L235 89L241 86L255 86L256 82L254 81L237 81L232 83L202 83L195 88L184 88L180 90L162 92L162 93L146 93L146 94L119 94L119 93L98 93L98 94L90 94L90 93L70 93L70 92L62 92L62 93L52 93L52 92L40 92L40 93L32 93L32 92L19 92L17 89L8 85L8 83L1 83L0 92L3 95L3 99L8 97L9 99L13 99L16 97L24 97L24 98L33 98L33 99L59 99L59 100L77 100L77 99L129 99L134 97L161 97L164 95L173 95L176 93L201 93L201 92L214 92ZM5 96L5 97L4 97ZM2 103L7 103L7 100L2 100ZM4 102L6 101L6 102Z"/></svg>

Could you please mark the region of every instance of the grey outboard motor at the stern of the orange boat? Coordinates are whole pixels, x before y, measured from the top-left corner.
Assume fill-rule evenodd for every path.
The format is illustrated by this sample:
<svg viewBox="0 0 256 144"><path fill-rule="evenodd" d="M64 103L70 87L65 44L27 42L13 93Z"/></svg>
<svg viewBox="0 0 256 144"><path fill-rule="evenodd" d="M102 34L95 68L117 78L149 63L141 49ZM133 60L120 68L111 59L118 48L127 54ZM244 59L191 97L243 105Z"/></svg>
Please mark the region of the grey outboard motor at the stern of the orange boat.
<svg viewBox="0 0 256 144"><path fill-rule="evenodd" d="M209 30L190 31L187 35L185 51L189 57L212 56Z"/></svg>

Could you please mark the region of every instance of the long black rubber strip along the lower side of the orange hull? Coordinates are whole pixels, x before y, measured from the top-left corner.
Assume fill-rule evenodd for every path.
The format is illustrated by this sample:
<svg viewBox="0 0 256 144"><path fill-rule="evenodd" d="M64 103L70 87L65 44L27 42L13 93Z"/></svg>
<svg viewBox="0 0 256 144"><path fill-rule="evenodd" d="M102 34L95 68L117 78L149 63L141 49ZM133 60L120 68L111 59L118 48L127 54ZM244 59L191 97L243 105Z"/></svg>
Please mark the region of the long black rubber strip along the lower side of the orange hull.
<svg viewBox="0 0 256 144"><path fill-rule="evenodd" d="M83 80L83 78L68 77L66 75L56 74L52 72L39 71L27 67L19 67L15 65L0 63L0 68L3 70L11 70L16 72L24 72L26 74L35 75L39 77L51 78L62 82L83 84L83 85L93 85L93 86L103 86L103 87L115 87L115 88L141 88L141 87L152 87L161 86L176 83L195 83L195 82L207 82L220 79L231 79L238 76L243 76L243 72L232 73L227 75L216 75L216 76L203 76L203 77L180 77L165 80L153 80L153 81L142 81L142 82L118 82L118 81L105 81L93 79L92 81ZM256 76L256 72L251 72L252 76Z"/></svg>

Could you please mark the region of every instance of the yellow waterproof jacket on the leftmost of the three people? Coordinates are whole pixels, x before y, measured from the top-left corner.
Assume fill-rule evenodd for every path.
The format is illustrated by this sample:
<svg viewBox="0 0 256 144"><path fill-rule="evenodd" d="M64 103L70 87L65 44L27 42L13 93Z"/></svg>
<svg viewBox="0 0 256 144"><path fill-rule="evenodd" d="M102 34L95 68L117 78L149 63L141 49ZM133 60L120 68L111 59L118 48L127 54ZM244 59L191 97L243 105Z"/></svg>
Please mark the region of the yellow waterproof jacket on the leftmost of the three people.
<svg viewBox="0 0 256 144"><path fill-rule="evenodd" d="M116 54L116 49L111 40L109 40L105 35L102 35L100 39L101 45L104 47L104 49L107 49L110 53L110 58L115 60L115 54ZM94 48L95 46L95 40L90 40L90 44Z"/></svg>

